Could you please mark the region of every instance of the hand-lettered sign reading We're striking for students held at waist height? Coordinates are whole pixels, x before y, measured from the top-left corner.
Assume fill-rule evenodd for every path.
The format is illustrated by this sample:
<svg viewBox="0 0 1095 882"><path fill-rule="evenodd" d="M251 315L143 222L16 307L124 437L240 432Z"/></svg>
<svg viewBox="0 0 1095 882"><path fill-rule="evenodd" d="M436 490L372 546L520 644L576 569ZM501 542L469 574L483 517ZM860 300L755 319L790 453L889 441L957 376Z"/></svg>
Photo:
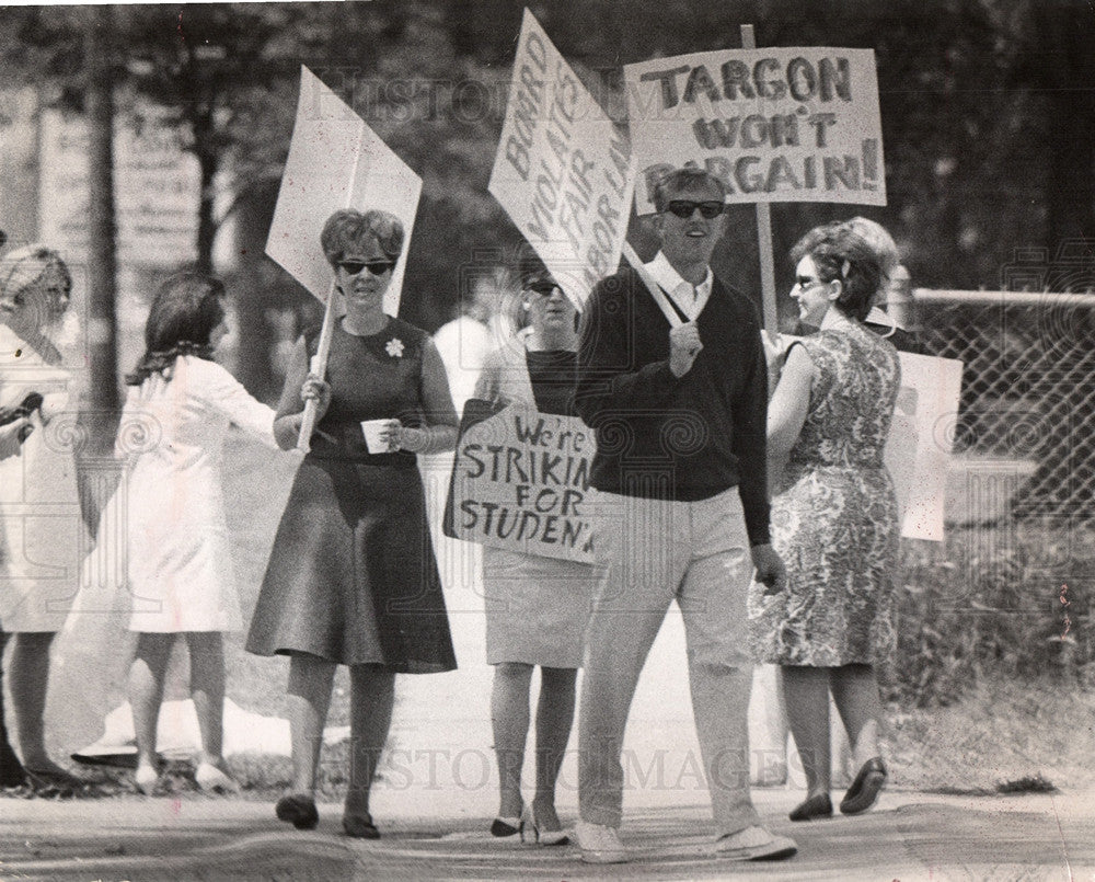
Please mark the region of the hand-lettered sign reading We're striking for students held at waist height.
<svg viewBox="0 0 1095 882"><path fill-rule="evenodd" d="M593 433L574 416L520 404L464 406L445 535L592 563L586 493Z"/></svg>

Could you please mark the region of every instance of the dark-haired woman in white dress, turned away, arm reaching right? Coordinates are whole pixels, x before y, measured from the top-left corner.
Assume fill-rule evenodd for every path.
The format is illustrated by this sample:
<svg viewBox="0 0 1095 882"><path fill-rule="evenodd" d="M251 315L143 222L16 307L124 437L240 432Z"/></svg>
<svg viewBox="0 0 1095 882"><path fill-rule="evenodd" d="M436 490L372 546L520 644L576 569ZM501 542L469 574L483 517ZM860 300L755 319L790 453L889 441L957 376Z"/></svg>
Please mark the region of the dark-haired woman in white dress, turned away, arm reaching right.
<svg viewBox="0 0 1095 882"><path fill-rule="evenodd" d="M129 630L138 635L129 701L142 793L159 777L157 721L178 634L189 649L201 733L195 780L203 790L239 789L221 756L222 632L243 625L221 491L223 447L232 425L276 444L274 411L212 360L227 333L223 284L196 273L173 276L152 300L145 355L126 377L116 451L127 460Z"/></svg>

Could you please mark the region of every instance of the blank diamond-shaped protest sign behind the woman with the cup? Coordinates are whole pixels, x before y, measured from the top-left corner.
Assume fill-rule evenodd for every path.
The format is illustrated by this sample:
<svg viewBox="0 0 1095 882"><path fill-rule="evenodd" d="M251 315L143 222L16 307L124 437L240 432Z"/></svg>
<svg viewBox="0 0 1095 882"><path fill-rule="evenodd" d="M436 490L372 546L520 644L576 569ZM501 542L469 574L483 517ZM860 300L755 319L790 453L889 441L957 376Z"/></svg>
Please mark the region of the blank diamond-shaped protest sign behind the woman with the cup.
<svg viewBox="0 0 1095 882"><path fill-rule="evenodd" d="M307 67L266 253L326 302L333 272L320 248L323 224L339 208L380 208L403 224L403 254L384 293L384 312L399 314L407 243L422 179L354 110Z"/></svg>

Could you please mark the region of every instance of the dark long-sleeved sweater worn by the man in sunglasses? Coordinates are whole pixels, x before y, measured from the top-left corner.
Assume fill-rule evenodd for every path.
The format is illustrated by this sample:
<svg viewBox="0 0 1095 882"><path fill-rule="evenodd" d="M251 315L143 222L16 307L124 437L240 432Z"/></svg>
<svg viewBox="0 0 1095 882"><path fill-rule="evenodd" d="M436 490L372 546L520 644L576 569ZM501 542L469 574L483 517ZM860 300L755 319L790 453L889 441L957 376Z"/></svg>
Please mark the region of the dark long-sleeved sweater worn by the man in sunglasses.
<svg viewBox="0 0 1095 882"><path fill-rule="evenodd" d="M694 502L738 488L751 545L769 538L768 371L749 299L714 280L698 319L703 350L669 369L669 322L634 270L586 305L575 406L597 433L598 490Z"/></svg>

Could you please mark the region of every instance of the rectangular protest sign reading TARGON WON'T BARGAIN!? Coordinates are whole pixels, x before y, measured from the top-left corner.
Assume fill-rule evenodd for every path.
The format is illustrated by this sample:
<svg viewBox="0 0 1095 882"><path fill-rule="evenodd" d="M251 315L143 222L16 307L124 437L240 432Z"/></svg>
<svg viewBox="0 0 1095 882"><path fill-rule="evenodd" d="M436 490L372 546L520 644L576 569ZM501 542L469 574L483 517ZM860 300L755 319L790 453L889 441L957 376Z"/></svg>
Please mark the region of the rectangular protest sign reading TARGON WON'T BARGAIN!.
<svg viewBox="0 0 1095 882"><path fill-rule="evenodd" d="M719 49L623 70L639 214L682 165L715 174L730 203L886 204L872 49Z"/></svg>

